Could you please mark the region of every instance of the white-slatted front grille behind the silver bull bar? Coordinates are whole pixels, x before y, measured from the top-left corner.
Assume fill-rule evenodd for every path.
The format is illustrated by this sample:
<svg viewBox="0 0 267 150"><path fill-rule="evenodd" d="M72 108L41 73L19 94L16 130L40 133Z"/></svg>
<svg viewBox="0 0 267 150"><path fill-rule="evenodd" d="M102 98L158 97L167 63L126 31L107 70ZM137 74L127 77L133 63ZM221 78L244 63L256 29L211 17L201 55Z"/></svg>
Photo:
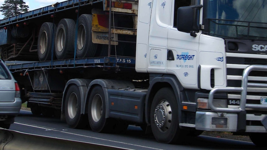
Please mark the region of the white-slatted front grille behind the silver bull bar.
<svg viewBox="0 0 267 150"><path fill-rule="evenodd" d="M255 58L251 58L251 56ZM243 70L249 65L267 65L266 55L260 54L235 54L226 53L227 87L241 87ZM259 58L257 58L259 57ZM266 71L251 71L248 77L249 83L267 84ZM260 104L261 97L267 97L265 88L248 88L247 104ZM240 93L228 92L228 100L240 100Z"/></svg>

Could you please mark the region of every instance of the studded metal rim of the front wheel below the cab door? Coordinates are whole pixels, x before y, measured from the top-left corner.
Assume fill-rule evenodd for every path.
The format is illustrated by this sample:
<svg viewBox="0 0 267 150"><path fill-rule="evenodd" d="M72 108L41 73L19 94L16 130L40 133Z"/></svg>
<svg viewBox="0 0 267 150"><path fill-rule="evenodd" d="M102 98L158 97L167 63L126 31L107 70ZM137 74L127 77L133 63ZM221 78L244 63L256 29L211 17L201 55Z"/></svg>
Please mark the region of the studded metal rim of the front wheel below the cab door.
<svg viewBox="0 0 267 150"><path fill-rule="evenodd" d="M162 100L156 106L154 111L155 125L161 132L166 132L171 126L172 109L168 101Z"/></svg>

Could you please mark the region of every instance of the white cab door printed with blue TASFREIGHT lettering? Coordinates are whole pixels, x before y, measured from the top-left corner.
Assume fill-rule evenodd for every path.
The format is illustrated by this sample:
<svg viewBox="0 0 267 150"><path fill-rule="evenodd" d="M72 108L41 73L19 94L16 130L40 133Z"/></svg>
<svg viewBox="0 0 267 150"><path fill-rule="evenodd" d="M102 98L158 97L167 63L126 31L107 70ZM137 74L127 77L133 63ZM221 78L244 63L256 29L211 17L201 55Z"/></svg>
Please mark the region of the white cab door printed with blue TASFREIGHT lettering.
<svg viewBox="0 0 267 150"><path fill-rule="evenodd" d="M190 1L175 0L172 5L172 26L168 28L168 57L167 73L174 74L184 87L197 87L197 60L199 35L190 36L190 33L180 32L176 27L177 8L189 6ZM199 33L197 33L199 34ZM168 59L168 58L167 58Z"/></svg>

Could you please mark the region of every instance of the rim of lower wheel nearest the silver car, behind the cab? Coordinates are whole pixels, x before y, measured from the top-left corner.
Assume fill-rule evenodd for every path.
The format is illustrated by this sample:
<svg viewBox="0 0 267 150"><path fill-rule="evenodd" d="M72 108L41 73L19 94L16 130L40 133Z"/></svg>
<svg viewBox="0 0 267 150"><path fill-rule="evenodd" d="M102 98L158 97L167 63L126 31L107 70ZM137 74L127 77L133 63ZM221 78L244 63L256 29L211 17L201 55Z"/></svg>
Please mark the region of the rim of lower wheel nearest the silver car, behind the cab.
<svg viewBox="0 0 267 150"><path fill-rule="evenodd" d="M77 114L78 103L77 103L77 95L72 92L68 99L68 115L71 119L73 119Z"/></svg>

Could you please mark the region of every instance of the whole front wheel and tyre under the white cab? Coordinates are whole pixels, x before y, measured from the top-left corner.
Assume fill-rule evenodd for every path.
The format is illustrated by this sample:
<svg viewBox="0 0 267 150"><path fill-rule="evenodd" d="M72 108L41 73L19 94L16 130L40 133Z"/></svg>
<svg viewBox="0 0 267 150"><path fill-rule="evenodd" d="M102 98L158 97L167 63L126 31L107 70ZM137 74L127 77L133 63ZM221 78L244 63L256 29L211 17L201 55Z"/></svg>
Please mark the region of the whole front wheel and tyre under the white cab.
<svg viewBox="0 0 267 150"><path fill-rule="evenodd" d="M150 123L158 142L169 144L183 137L179 128L178 105L171 88L161 88L155 94L151 104Z"/></svg>

